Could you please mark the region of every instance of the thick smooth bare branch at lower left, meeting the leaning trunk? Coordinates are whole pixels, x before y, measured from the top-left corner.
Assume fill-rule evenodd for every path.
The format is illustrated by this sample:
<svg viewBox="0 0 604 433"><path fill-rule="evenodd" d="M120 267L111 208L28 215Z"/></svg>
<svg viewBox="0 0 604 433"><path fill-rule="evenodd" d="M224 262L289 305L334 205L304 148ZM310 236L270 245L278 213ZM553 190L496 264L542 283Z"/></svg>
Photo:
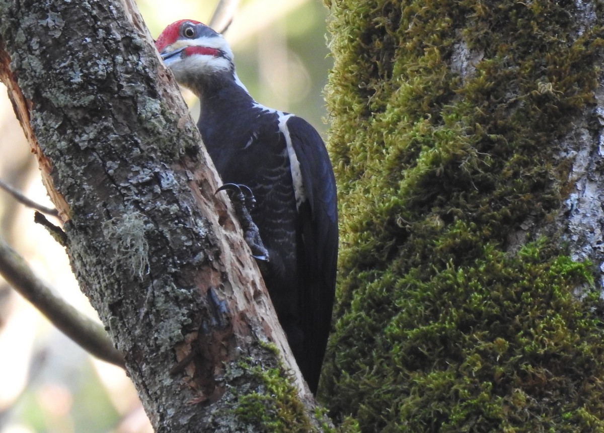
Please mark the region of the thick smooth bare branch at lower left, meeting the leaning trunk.
<svg viewBox="0 0 604 433"><path fill-rule="evenodd" d="M34 276L25 260L2 238L0 274L67 337L97 358L124 367L122 354L115 349L103 327L55 296L45 283Z"/></svg>

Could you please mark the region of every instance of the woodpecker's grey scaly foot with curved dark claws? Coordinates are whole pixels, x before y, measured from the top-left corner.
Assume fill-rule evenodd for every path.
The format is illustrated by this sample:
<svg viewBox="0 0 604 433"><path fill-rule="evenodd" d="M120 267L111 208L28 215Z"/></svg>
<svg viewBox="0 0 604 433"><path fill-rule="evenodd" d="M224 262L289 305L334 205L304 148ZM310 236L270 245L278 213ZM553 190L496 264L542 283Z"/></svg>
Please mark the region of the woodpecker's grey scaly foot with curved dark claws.
<svg viewBox="0 0 604 433"><path fill-rule="evenodd" d="M254 220L252 220L252 216L249 214L249 211L254 209L256 204L252 190L246 185L225 183L216 190L216 192L220 191L226 191L231 198L235 213L243 228L243 238L252 250L252 257L256 260L268 262L268 251L262 243L258 226L256 226Z"/></svg>

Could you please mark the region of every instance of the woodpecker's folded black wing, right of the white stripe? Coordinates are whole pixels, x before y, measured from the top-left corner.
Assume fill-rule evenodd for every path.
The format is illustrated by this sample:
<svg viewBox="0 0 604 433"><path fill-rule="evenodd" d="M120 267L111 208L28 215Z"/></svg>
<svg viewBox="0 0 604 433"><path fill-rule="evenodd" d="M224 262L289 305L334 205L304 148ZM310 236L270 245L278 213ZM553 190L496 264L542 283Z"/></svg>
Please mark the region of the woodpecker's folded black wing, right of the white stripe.
<svg viewBox="0 0 604 433"><path fill-rule="evenodd" d="M298 207L298 267L304 356L300 369L316 393L329 336L338 261L338 201L329 155L321 136L304 119L286 123L300 163L306 200Z"/></svg>

